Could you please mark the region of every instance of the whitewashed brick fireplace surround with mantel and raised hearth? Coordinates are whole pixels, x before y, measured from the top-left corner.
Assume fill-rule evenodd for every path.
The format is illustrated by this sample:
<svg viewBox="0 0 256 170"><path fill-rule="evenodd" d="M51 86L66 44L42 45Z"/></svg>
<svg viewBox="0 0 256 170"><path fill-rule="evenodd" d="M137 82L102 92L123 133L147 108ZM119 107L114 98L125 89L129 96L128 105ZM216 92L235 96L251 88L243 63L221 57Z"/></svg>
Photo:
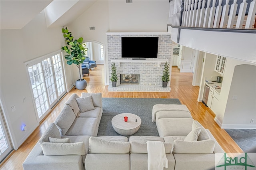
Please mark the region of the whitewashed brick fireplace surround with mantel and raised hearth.
<svg viewBox="0 0 256 170"><path fill-rule="evenodd" d="M170 82L166 88L162 87L162 73L164 63L171 63L172 40L171 35L164 33L106 33L108 40L108 68L111 74L111 63L116 63L118 81L116 87L109 82L108 91L138 91L138 92L170 92ZM158 37L158 57L146 60L132 60L121 57L121 37ZM132 50L132 44L131 44ZM140 84L120 84L120 74L139 74Z"/></svg>

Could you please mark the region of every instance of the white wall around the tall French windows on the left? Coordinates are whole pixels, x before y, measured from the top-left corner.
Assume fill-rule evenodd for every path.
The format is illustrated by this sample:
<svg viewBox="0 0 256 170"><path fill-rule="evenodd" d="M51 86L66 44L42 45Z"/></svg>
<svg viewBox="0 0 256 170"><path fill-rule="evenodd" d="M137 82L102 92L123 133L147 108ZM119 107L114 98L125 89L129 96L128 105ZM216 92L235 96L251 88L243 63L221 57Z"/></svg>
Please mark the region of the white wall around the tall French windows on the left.
<svg viewBox="0 0 256 170"><path fill-rule="evenodd" d="M0 97L15 149L39 125L24 62L58 51L63 43L61 28L46 28L43 13L22 29L1 30ZM12 106L16 111L12 112ZM27 131L21 130L22 124Z"/></svg>

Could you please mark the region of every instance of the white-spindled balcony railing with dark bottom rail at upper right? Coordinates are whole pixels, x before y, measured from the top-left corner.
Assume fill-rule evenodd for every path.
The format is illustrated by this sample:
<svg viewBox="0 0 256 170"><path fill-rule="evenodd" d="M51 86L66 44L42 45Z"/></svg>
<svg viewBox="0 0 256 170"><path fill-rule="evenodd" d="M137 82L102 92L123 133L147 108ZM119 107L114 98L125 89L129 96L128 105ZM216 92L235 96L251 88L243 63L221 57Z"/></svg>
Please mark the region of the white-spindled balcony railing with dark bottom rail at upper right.
<svg viewBox="0 0 256 170"><path fill-rule="evenodd" d="M169 23L199 28L256 28L256 0L172 0Z"/></svg>

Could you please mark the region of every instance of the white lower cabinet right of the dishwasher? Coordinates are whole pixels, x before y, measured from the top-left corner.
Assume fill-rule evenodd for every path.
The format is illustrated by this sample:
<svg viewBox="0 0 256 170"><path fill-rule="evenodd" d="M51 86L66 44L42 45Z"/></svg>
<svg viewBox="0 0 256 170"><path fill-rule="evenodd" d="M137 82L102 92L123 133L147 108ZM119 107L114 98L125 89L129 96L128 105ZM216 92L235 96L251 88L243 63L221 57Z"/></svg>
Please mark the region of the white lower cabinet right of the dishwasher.
<svg viewBox="0 0 256 170"><path fill-rule="evenodd" d="M216 114L218 113L220 94L213 88L210 88L207 106Z"/></svg>

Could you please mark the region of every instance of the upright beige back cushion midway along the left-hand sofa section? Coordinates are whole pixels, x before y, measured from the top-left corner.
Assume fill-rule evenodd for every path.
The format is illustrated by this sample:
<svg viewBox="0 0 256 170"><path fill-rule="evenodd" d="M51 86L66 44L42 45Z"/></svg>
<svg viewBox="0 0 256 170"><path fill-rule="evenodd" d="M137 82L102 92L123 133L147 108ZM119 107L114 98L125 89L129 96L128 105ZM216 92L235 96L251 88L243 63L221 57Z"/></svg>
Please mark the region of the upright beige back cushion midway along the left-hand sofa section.
<svg viewBox="0 0 256 170"><path fill-rule="evenodd" d="M60 115L56 118L54 123L59 128L60 134L65 135L75 119L76 116L74 115L71 107L69 105L66 105L64 106L64 108L60 112Z"/></svg>

